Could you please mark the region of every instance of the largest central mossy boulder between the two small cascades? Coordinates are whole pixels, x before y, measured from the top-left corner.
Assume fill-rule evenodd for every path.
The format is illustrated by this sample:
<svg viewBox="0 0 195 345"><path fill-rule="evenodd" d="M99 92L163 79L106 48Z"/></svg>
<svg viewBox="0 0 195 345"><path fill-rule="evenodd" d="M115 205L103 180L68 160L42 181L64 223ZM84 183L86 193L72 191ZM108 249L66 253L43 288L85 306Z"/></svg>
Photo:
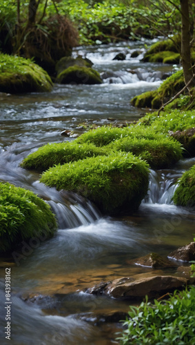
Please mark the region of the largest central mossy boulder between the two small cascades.
<svg viewBox="0 0 195 345"><path fill-rule="evenodd" d="M145 161L117 152L55 166L43 173L41 182L80 193L109 215L136 210L148 188Z"/></svg>

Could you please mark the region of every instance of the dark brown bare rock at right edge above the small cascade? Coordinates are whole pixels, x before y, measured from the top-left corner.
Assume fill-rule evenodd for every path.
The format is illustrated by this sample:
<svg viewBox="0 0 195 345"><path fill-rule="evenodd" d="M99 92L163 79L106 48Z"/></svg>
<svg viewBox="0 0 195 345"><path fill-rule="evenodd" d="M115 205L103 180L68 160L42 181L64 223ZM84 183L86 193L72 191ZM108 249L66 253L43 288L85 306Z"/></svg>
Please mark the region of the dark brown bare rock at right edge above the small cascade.
<svg viewBox="0 0 195 345"><path fill-rule="evenodd" d="M195 127L182 131L177 130L176 132L170 131L169 134L185 148L183 151L184 157L195 156Z"/></svg>

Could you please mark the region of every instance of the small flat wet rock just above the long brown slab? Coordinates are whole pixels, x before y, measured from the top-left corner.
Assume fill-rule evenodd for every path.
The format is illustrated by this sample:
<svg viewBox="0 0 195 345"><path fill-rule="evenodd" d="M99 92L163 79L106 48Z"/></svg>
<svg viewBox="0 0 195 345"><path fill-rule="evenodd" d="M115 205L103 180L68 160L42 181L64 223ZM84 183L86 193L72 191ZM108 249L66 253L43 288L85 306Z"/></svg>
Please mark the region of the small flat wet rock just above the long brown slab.
<svg viewBox="0 0 195 345"><path fill-rule="evenodd" d="M161 257L156 253L150 253L145 255L144 257L138 257L137 259L133 259L128 261L128 264L136 264L139 266L146 266L151 268L168 268L176 266L173 262L169 259Z"/></svg>

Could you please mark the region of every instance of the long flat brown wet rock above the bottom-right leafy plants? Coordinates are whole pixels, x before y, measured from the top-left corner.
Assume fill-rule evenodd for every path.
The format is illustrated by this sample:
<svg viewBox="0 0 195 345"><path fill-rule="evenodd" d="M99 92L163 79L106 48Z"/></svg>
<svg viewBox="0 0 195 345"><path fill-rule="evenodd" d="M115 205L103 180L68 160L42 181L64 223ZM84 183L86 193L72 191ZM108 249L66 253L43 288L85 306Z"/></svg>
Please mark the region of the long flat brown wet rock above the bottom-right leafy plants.
<svg viewBox="0 0 195 345"><path fill-rule="evenodd" d="M114 298L142 299L147 295L154 298L164 293L170 293L175 289L182 288L187 284L184 277L174 277L171 275L155 275L153 277L138 276L123 277L114 279L112 282L101 282L93 288L85 290L93 295L105 294Z"/></svg>

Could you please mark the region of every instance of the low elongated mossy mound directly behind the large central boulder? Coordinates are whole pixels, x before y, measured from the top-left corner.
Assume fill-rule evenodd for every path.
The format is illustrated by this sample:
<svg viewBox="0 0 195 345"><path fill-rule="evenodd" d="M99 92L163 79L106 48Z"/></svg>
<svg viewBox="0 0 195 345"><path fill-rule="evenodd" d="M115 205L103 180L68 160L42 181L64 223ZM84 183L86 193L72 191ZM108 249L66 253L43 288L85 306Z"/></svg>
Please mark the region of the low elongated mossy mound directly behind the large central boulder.
<svg viewBox="0 0 195 345"><path fill-rule="evenodd" d="M70 161L78 161L86 157L107 155L106 148L98 148L93 144L77 144L63 142L58 144L47 144L31 153L23 159L22 168L44 171L55 164L65 164Z"/></svg>

